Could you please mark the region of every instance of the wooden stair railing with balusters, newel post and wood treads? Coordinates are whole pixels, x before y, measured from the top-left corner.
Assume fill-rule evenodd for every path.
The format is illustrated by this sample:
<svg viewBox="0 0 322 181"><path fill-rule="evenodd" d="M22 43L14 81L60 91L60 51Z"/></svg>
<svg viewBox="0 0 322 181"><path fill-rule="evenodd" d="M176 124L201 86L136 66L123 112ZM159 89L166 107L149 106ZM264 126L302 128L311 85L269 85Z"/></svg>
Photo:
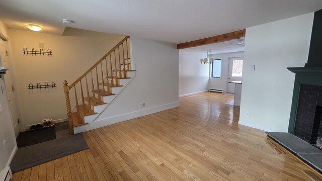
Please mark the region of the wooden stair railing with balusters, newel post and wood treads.
<svg viewBox="0 0 322 181"><path fill-rule="evenodd" d="M96 114L94 109L92 108L95 105L104 104L103 96L110 96L114 95L112 93L112 88L114 86L119 85L119 78L126 78L126 70L125 70L125 56L124 56L124 42L126 42L126 54L127 54L127 62L129 59L128 55L128 39L130 36L126 36L122 41L120 41L116 46L114 46L109 52L107 52L99 61L97 61L94 65L91 66L82 76L77 78L72 84L68 85L67 81L64 81L64 93L65 93L65 100L66 100L66 109L67 109L67 116L68 116L68 127L69 133L73 134L73 126L79 126L86 124L84 118L82 116ZM122 47L120 47L122 46ZM123 76L121 73L121 50L122 49L122 61L123 61ZM118 56L116 56L116 51ZM110 62L108 62L108 56L110 56ZM112 60L112 56L114 56L114 61ZM118 59L118 64L116 63ZM104 64L105 62L105 64ZM100 65L101 64L101 65ZM114 64L114 65L113 65ZM110 65L110 67L108 67ZM100 66L100 67L97 67ZM106 76L104 75L104 68L106 69ZM115 69L114 69L114 68ZM110 71L109 72L109 68ZM119 69L118 69L119 68ZM113 70L114 69L114 70ZM95 71L95 72L93 72ZM114 75L115 72L115 75ZM119 76L117 75L119 72ZM94 73L94 77L93 77ZM111 84L109 82L109 73L111 74ZM88 78L90 80L88 80ZM106 77L106 83L104 78ZM101 79L102 78L102 79ZM95 82L95 83L94 83ZM91 84L92 83L92 87ZM115 83L115 84L114 84ZM76 84L79 85L79 88L76 88ZM84 84L84 87L83 87ZM77 87L78 87L77 85ZM73 91L75 94L75 102L76 102L76 110L77 112L71 113L71 104L69 99L69 91L73 87ZM83 89L85 88L85 89ZM92 88L92 90L90 90ZM94 89L96 88L96 89ZM79 103L77 92L79 95ZM92 97L90 95L92 93ZM85 102L86 101L86 102ZM79 117L81 116L81 117ZM73 120L75 119L75 120Z"/></svg>

